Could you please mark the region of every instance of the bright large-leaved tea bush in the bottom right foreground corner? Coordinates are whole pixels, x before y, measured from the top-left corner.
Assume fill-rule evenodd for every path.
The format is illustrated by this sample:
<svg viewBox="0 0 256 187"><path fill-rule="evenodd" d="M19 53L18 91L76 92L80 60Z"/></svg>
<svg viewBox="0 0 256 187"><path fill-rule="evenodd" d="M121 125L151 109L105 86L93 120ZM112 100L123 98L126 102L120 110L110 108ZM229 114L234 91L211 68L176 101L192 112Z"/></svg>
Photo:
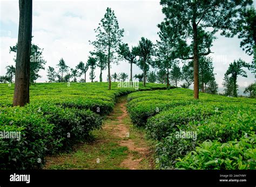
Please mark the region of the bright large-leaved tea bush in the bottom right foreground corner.
<svg viewBox="0 0 256 187"><path fill-rule="evenodd" d="M183 159L177 159L179 169L255 169L255 138L253 134L239 141L204 141Z"/></svg>

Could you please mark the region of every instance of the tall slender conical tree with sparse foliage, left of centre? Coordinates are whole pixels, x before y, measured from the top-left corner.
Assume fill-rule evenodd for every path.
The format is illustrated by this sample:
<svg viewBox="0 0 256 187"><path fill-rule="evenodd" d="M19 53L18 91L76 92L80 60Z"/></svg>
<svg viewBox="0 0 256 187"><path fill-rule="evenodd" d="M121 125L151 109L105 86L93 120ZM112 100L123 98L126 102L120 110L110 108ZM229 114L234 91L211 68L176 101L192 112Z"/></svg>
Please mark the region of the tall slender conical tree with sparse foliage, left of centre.
<svg viewBox="0 0 256 187"><path fill-rule="evenodd" d="M110 63L117 59L115 54L117 53L118 46L124 33L123 29L119 29L117 18L111 8L106 9L104 18L100 21L95 32L97 33L96 41L93 41L92 45L95 46L96 51L101 51L107 56L107 76L110 90Z"/></svg>

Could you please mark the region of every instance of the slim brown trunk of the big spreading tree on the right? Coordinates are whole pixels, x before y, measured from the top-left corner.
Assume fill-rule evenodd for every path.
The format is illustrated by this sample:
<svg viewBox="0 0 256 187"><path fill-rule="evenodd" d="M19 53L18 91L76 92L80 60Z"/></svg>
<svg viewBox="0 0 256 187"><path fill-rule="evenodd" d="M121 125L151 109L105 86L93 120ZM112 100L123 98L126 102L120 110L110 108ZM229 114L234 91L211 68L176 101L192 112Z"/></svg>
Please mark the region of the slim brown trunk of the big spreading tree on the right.
<svg viewBox="0 0 256 187"><path fill-rule="evenodd" d="M199 80L198 80L198 38L197 38L197 24L196 21L193 21L193 53L194 53L194 98L199 99Z"/></svg>

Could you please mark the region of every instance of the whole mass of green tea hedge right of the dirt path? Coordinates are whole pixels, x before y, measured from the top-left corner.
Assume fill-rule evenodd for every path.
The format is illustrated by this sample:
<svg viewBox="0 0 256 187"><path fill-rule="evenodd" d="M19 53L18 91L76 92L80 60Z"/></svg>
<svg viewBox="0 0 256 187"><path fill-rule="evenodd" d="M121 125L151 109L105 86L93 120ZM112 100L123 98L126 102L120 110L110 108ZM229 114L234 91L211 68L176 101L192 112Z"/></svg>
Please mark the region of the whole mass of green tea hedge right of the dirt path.
<svg viewBox="0 0 256 187"><path fill-rule="evenodd" d="M199 100L194 100L193 91L188 89L135 92L128 96L128 111L133 123L145 126L147 136L157 141L159 167L255 167L256 100L207 93L200 93L199 97ZM191 136L187 137L186 133ZM241 145L245 142L247 144L242 148ZM204 145L209 146L209 151L205 152L212 157L207 158L201 152ZM211 153L215 152L214 146L219 147L218 154ZM226 148L221 149L222 147ZM218 160L216 165L215 160ZM235 164L236 161L239 164Z"/></svg>

